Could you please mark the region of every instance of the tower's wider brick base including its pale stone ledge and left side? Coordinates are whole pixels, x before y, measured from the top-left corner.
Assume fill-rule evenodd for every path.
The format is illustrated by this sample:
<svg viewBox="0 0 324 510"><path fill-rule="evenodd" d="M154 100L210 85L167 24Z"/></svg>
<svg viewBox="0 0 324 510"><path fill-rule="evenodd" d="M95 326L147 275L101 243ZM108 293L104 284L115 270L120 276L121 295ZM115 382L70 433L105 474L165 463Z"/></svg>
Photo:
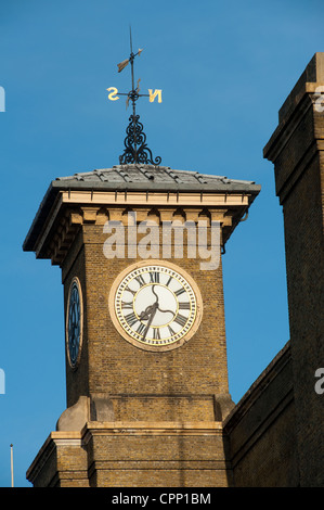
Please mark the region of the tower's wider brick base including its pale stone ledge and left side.
<svg viewBox="0 0 324 510"><path fill-rule="evenodd" d="M87 422L51 432L27 471L36 487L228 487L222 422Z"/></svg>

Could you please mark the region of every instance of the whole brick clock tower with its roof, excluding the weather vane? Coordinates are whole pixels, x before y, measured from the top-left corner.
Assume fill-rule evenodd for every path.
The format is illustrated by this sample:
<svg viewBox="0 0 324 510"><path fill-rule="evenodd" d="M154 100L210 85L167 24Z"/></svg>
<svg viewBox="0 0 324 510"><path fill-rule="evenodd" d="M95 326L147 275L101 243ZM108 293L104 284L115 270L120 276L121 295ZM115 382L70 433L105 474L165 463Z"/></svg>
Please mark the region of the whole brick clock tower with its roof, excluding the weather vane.
<svg viewBox="0 0 324 510"><path fill-rule="evenodd" d="M62 269L66 409L35 486L228 486L221 254L260 187L122 164L51 182L24 243Z"/></svg>

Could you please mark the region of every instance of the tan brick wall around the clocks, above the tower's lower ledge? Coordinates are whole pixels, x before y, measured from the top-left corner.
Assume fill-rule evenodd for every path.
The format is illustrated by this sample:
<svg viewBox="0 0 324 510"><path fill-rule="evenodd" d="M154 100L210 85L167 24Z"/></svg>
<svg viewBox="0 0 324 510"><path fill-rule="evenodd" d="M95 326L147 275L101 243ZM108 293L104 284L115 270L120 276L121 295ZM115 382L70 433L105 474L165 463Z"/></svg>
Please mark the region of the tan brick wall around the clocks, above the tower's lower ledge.
<svg viewBox="0 0 324 510"><path fill-rule="evenodd" d="M163 420L192 420L203 419L204 415L207 419L215 406L211 404L210 410L206 410L205 395L212 401L213 395L229 392L221 265L216 271L202 271L199 259L170 259L198 282L204 320L195 336L181 348L167 353L146 352L126 342L111 320L108 295L112 284L134 260L105 258L106 238L102 226L82 226L83 248L75 250L73 264L69 257L68 271L63 266L65 303L74 276L81 282L86 303L81 362L77 370L67 364L68 406L75 404L79 395L98 393L112 397L116 419L156 420L158 416ZM165 406L153 405L152 399L150 406L144 406L143 398L131 401L130 397L150 395L165 395ZM172 395L178 398L172 400ZM181 395L184 397L182 404ZM202 395L200 403L197 397L194 401L187 398L195 395ZM129 416L127 405L130 406Z"/></svg>

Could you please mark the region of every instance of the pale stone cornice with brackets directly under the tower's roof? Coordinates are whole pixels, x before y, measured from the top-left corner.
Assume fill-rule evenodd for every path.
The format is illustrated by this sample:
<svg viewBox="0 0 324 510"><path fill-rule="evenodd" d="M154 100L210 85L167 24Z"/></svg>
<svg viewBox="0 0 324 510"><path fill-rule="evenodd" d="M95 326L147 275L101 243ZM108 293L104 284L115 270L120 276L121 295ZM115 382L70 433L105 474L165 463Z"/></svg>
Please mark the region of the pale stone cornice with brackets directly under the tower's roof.
<svg viewBox="0 0 324 510"><path fill-rule="evenodd" d="M236 225L246 215L255 195L249 193L140 193L60 191L46 218L35 224L24 250L37 258L50 258L61 265L79 229L85 225L104 226L107 220L127 225L127 213L137 212L138 221L154 219L158 225L180 215L184 221L205 219L222 227L224 245Z"/></svg>

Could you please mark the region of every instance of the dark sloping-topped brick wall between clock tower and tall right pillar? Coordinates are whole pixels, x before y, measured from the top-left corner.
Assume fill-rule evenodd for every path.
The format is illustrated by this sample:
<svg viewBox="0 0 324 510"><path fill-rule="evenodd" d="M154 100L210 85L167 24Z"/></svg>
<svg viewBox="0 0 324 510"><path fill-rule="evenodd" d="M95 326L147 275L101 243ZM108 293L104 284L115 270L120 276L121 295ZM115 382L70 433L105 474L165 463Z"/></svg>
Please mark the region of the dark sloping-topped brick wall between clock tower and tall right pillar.
<svg viewBox="0 0 324 510"><path fill-rule="evenodd" d="M224 422L236 487L297 487L293 366L288 343Z"/></svg>

